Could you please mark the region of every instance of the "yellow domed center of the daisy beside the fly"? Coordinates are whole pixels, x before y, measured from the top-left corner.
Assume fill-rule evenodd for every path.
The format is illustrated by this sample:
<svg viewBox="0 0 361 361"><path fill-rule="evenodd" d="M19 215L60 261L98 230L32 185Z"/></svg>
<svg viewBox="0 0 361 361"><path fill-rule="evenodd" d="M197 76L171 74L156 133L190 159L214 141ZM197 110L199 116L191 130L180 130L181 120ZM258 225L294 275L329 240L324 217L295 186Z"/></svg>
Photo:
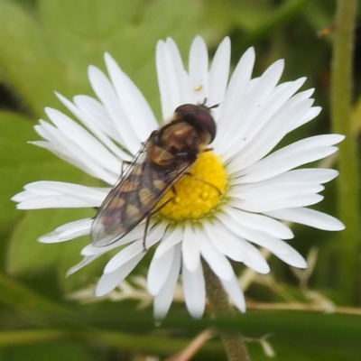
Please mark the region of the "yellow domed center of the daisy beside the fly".
<svg viewBox="0 0 361 361"><path fill-rule="evenodd" d="M189 172L174 185L175 194L169 190L159 202L158 206L162 206L168 201L159 211L162 218L199 219L218 208L227 186L227 174L219 157L210 151L201 153Z"/></svg>

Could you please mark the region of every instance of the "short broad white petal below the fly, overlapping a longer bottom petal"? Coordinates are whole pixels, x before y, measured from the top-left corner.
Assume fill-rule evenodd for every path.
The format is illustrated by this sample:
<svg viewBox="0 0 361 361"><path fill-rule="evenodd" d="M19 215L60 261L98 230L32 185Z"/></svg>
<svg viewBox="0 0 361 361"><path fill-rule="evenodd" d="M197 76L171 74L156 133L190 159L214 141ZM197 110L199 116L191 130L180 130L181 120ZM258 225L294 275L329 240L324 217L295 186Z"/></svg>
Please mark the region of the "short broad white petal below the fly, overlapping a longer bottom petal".
<svg viewBox="0 0 361 361"><path fill-rule="evenodd" d="M162 289L167 280L174 259L174 247L160 258L153 257L149 266L147 289L153 296Z"/></svg>

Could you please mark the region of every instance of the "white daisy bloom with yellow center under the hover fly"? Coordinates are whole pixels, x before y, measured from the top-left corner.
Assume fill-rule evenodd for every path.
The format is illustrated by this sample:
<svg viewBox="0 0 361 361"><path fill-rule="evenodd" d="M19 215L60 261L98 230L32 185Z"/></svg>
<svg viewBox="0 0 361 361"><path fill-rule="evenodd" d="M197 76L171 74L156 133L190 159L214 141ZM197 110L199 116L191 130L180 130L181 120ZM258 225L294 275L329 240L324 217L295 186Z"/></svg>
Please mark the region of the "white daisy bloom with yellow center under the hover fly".
<svg viewBox="0 0 361 361"><path fill-rule="evenodd" d="M81 125L47 108L52 124L41 120L35 130L44 140L32 143L109 187L38 181L14 196L18 208L100 207L119 178L122 162L131 161L159 127L139 89L109 54L105 61L109 78L96 67L88 69L98 100L77 96L70 102L57 94ZM228 38L219 45L208 69L206 44L197 37L190 48L188 71L171 39L157 44L162 122L168 122L183 104L203 104L207 99L208 106L218 105L209 110L217 124L212 151L200 153L190 169L195 177L183 176L177 182L176 197L154 215L146 236L147 248L158 244L147 277L157 319L168 312L180 276L191 316L202 316L206 292L201 260L208 263L241 311L245 311L245 298L230 261L268 273L269 265L257 248L261 246L286 264L306 267L304 258L284 241L293 234L282 220L331 231L344 228L336 218L307 208L323 199L321 184L333 180L338 172L296 169L335 153L334 145L344 137L311 136L273 151L286 134L319 115L319 106L312 106L310 98L313 89L297 93L305 78L278 84L283 60L251 79L253 48L245 52L228 81L229 63ZM40 241L56 243L89 235L92 223L91 218L75 220ZM83 261L69 273L121 246L97 282L97 296L111 292L145 255L143 233L144 221L113 244L87 245L81 252Z"/></svg>

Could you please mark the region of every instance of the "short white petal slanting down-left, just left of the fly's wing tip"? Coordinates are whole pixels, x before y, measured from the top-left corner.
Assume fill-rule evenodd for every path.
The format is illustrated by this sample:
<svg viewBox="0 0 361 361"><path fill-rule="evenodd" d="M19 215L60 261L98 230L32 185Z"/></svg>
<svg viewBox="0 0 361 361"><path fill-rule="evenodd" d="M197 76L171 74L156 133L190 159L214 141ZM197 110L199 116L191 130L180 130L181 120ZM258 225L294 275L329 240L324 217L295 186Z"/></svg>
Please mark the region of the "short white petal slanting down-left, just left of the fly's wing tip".
<svg viewBox="0 0 361 361"><path fill-rule="evenodd" d="M51 233L41 236L38 241L42 243L57 243L69 241L90 233L92 218L79 219L54 229Z"/></svg>

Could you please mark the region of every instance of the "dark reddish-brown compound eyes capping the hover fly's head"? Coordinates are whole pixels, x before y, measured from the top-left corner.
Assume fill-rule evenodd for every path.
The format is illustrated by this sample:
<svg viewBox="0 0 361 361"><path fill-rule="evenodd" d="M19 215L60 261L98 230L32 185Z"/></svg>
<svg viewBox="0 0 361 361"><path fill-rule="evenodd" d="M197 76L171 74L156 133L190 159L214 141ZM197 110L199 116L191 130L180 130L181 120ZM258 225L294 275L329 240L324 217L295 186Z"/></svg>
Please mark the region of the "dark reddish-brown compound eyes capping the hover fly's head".
<svg viewBox="0 0 361 361"><path fill-rule="evenodd" d="M200 132L207 132L210 136L209 143L216 137L216 123L207 106L183 104L175 109L175 113L190 125L195 126Z"/></svg>

